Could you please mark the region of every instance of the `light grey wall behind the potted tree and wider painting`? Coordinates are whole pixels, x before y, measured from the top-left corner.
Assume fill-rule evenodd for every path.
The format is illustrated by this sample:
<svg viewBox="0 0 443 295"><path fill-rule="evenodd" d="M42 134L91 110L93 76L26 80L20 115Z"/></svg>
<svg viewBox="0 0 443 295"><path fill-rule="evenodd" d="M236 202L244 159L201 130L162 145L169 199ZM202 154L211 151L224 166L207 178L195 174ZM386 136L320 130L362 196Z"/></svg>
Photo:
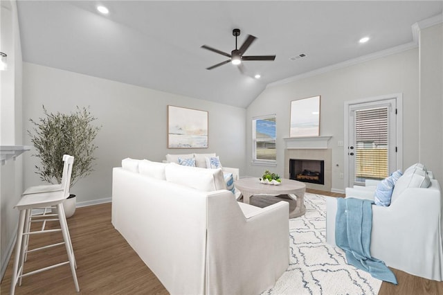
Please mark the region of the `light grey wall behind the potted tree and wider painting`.
<svg viewBox="0 0 443 295"><path fill-rule="evenodd" d="M221 164L244 173L246 109L187 98L130 84L24 63L24 129L33 127L29 118L42 116L42 105L50 112L69 113L75 106L90 106L102 125L97 138L95 171L71 188L77 202L93 204L111 197L112 168L126 157L162 161L165 154L216 152ZM167 106L208 111L208 149L167 148ZM26 145L32 145L24 133ZM25 186L40 184L34 166L37 157L24 157Z"/></svg>

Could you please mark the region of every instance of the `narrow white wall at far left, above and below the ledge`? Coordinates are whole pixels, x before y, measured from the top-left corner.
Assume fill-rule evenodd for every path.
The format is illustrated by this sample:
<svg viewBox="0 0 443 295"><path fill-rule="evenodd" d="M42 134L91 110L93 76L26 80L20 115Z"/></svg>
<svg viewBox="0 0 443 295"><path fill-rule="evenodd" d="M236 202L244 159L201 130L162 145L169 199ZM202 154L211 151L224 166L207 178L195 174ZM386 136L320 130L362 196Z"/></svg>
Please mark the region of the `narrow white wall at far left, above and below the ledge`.
<svg viewBox="0 0 443 295"><path fill-rule="evenodd" d="M0 51L8 55L8 71L0 72L0 145L21 145L21 45L15 1L1 1ZM0 277L15 241L18 211L13 208L23 190L23 161L0 166Z"/></svg>

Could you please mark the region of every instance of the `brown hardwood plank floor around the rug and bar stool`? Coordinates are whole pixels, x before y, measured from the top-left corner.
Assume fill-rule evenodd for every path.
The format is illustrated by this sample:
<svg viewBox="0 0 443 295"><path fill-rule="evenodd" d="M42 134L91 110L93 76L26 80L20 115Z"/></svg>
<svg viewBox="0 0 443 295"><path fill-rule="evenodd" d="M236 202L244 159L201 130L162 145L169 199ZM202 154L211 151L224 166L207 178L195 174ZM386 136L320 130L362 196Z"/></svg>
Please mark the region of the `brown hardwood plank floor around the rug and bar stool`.
<svg viewBox="0 0 443 295"><path fill-rule="evenodd" d="M337 193L308 190L309 193L343 197ZM69 231L75 251L80 293L75 292L68 265L23 279L15 294L168 294L160 281L129 247L111 224L111 204L78 208L69 218ZM62 240L61 233L47 233L30 239L32 247L45 240ZM12 255L12 257L14 257ZM64 246L30 253L26 271L66 260ZM9 294L12 260L1 281L0 294ZM382 283L379 294L443 294L443 283L411 276L392 269L399 285ZM337 282L339 284L339 282ZM294 294L296 295L296 294Z"/></svg>

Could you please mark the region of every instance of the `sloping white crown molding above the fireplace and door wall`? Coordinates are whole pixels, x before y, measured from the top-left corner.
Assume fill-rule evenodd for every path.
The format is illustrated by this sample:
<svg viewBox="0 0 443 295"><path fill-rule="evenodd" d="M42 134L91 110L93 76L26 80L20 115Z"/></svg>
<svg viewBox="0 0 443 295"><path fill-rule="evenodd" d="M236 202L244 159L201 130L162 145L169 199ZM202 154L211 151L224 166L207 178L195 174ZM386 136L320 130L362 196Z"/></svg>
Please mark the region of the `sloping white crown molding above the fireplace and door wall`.
<svg viewBox="0 0 443 295"><path fill-rule="evenodd" d="M275 81L275 82L267 84L266 88L274 87L274 86L278 86L278 85L282 85L282 84L287 84L287 83L290 83L290 82L294 82L294 81L301 80L301 79L304 79L304 78L312 77L312 76L315 76L315 75L320 75L320 74L323 74L323 73L328 73L328 72L331 72L331 71L336 71L338 69L342 69L342 68L345 68L347 66L353 66L354 64L361 64L363 62L368 62L370 60L377 60L377 58L385 57L385 56L392 55L392 54L395 54L395 53L401 53L403 51L408 51L410 49L417 48L417 47L418 47L418 44L415 43L415 42L410 42L410 43L402 44L402 45L399 45L399 46L395 46L395 47L392 47L392 48L385 49L383 51L378 51L376 53L371 53L371 54L368 54L368 55L363 55L363 56L360 56L360 57L356 57L356 58L354 58L352 60L346 60L345 62L339 62L338 64L332 64L331 66L325 66L323 68L316 69L314 71L309 71L307 73L302 73L300 75L295 75L293 77L289 77L289 78L286 78L286 79L283 79L283 80Z"/></svg>

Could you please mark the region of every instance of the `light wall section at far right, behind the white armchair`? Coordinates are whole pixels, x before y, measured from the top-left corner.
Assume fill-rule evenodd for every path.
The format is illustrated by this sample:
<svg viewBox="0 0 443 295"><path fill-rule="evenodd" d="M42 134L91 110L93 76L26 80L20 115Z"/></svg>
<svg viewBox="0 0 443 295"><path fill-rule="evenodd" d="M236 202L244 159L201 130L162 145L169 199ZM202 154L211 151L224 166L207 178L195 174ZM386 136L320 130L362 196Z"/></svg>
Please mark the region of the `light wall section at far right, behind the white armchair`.
<svg viewBox="0 0 443 295"><path fill-rule="evenodd" d="M419 161L443 184L443 24L419 33Z"/></svg>

